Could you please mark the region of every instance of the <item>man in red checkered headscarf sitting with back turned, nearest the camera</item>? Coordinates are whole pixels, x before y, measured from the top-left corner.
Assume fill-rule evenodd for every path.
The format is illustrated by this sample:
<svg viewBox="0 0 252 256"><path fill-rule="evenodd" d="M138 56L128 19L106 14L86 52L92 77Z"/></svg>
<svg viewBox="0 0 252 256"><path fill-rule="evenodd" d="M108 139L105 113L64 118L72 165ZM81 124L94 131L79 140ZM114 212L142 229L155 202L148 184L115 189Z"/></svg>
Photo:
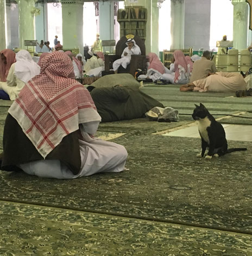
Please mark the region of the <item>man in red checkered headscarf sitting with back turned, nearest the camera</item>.
<svg viewBox="0 0 252 256"><path fill-rule="evenodd" d="M71 179L97 172L121 172L127 151L93 137L100 116L88 92L74 79L65 53L47 54L40 75L23 87L9 108L2 169Z"/></svg>

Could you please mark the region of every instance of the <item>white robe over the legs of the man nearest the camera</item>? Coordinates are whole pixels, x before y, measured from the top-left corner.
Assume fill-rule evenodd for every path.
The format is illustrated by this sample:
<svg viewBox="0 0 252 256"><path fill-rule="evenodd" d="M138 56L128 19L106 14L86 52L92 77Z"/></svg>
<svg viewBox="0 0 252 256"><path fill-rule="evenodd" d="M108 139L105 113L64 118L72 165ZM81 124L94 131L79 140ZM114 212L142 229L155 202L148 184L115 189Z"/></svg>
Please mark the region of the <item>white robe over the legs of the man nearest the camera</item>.
<svg viewBox="0 0 252 256"><path fill-rule="evenodd" d="M128 156L127 150L119 144L91 138L95 134L99 121L80 124L83 139L79 139L81 168L78 174L73 174L59 160L40 160L20 164L20 168L30 175L42 178L74 179L100 172L122 172Z"/></svg>

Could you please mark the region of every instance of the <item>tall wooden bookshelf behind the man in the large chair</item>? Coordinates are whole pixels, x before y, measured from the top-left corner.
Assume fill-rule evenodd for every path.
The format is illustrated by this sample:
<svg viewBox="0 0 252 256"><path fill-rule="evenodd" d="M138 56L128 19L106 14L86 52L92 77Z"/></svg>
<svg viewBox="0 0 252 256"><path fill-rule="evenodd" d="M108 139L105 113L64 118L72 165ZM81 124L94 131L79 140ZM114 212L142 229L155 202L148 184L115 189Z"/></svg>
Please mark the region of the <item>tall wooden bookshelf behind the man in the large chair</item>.
<svg viewBox="0 0 252 256"><path fill-rule="evenodd" d="M133 34L146 39L147 9L142 6L118 9L117 21L120 25L120 38Z"/></svg>

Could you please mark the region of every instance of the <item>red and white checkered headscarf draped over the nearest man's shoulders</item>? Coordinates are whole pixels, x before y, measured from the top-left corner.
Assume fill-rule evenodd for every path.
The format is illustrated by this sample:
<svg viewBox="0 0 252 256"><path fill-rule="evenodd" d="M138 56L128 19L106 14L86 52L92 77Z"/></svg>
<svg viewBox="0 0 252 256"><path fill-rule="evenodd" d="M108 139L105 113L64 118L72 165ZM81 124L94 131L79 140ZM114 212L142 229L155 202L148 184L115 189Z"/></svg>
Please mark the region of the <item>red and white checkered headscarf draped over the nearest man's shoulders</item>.
<svg viewBox="0 0 252 256"><path fill-rule="evenodd" d="M42 59L40 75L27 82L9 113L44 158L79 124L101 120L88 90L74 80L72 60L62 52Z"/></svg>

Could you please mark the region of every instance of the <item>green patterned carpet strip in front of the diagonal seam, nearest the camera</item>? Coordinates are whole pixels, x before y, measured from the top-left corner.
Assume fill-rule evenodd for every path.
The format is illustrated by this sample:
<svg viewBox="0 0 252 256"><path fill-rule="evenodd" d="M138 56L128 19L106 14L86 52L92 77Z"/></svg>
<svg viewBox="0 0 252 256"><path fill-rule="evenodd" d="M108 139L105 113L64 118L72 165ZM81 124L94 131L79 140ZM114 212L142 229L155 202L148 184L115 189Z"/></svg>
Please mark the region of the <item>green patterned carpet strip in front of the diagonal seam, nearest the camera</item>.
<svg viewBox="0 0 252 256"><path fill-rule="evenodd" d="M249 235L88 212L1 202L0 220L1 256L252 253Z"/></svg>

